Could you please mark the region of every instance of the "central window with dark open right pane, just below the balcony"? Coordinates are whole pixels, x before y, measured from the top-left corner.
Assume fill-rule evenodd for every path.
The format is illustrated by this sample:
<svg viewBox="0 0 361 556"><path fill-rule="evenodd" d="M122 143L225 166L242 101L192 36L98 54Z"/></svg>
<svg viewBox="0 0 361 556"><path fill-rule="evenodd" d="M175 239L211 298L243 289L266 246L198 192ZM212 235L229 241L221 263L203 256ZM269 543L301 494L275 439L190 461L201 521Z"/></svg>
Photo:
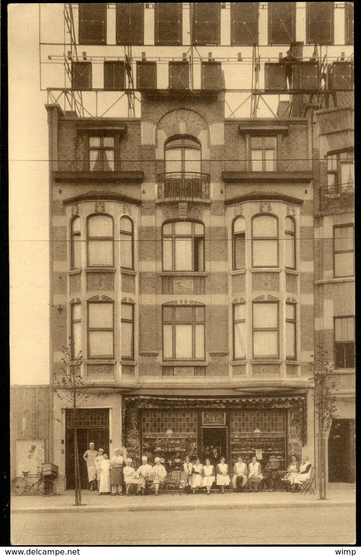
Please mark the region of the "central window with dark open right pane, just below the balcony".
<svg viewBox="0 0 361 556"><path fill-rule="evenodd" d="M200 222L163 224L163 270L204 270L204 225Z"/></svg>

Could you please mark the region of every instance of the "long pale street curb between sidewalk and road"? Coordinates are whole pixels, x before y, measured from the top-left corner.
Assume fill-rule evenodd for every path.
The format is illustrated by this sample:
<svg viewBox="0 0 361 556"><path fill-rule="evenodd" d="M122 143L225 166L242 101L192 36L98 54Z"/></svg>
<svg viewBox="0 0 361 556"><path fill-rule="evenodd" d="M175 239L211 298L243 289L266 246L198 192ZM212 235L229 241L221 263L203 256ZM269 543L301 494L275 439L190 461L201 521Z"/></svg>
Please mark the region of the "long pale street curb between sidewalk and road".
<svg viewBox="0 0 361 556"><path fill-rule="evenodd" d="M355 506L354 502L343 502L342 500L320 500L319 502L313 502L309 504L308 502L283 502L277 503L277 508L310 508L310 507L322 507L322 508L352 508ZM128 507L108 507L108 506L64 506L63 508L23 508L23 509L13 509L12 514L45 514L45 513L64 513L64 512L74 512L74 513L89 513L89 512L192 512L195 510L238 510L238 509L274 509L274 503L259 503L259 504L212 504L212 505L134 505Z"/></svg>

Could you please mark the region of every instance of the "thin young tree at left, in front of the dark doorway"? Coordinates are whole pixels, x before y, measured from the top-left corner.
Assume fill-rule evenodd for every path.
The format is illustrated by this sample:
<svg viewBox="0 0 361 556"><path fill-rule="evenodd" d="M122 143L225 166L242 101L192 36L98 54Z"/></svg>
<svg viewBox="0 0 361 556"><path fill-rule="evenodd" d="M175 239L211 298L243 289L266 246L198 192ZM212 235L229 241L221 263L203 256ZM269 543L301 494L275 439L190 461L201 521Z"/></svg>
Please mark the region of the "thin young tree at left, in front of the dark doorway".
<svg viewBox="0 0 361 556"><path fill-rule="evenodd" d="M59 388L56 390L57 397L65 401L71 414L71 427L74 437L74 475L75 475L75 505L82 504L82 490L79 469L78 437L77 437L77 410L87 400L88 394L83 384L81 365L83 361L82 352L74 354L74 344L70 339L69 347L62 349L63 375L58 378L54 374L54 384Z"/></svg>

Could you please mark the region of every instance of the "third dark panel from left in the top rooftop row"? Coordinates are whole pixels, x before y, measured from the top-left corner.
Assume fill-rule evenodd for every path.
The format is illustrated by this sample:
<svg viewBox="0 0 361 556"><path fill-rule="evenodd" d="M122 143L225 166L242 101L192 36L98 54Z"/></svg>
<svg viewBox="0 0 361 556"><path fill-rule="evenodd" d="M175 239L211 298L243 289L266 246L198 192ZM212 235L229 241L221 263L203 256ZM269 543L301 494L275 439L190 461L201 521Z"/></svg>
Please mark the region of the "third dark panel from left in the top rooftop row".
<svg viewBox="0 0 361 556"><path fill-rule="evenodd" d="M182 44L182 3L154 4L154 44Z"/></svg>

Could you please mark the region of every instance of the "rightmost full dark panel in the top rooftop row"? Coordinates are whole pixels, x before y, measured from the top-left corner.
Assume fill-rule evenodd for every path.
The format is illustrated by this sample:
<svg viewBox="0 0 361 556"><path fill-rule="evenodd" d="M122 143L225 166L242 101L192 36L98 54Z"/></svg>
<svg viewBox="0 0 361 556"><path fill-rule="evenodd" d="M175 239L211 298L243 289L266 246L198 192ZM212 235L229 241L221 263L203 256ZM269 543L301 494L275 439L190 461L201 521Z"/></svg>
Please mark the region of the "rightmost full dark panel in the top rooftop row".
<svg viewBox="0 0 361 556"><path fill-rule="evenodd" d="M334 2L306 2L306 42L333 44Z"/></svg>

